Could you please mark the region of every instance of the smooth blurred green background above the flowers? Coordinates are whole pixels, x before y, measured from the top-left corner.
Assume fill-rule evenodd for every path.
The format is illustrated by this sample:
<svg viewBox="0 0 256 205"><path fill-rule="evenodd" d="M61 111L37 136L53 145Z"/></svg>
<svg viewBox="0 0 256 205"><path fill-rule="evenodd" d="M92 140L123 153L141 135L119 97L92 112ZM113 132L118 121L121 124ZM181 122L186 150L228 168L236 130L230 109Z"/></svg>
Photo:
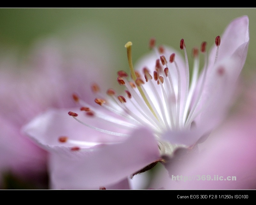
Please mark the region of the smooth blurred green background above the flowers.
<svg viewBox="0 0 256 205"><path fill-rule="evenodd" d="M16 49L22 56L39 38L62 37L77 29L97 28L95 35L112 39L113 53L118 55L122 69L128 69L124 44L133 43L133 61L148 52L148 41L166 44L179 50L180 39L186 42L188 57L191 49L202 41L208 49L230 21L248 15L250 44L243 74L254 69L256 58L255 8L1 8L1 53ZM120 70L121 68L116 68Z"/></svg>

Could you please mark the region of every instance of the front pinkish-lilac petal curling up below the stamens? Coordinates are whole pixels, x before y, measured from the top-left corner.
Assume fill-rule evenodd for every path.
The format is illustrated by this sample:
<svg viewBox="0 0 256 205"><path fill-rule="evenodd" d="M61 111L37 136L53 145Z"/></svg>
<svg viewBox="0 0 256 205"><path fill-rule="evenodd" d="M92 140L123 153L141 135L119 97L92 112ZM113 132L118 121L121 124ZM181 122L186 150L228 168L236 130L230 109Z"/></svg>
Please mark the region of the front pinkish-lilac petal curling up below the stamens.
<svg viewBox="0 0 256 205"><path fill-rule="evenodd" d="M52 154L50 173L54 188L85 189L116 183L160 158L156 140L145 129L135 131L123 143L83 151L76 157Z"/></svg>

